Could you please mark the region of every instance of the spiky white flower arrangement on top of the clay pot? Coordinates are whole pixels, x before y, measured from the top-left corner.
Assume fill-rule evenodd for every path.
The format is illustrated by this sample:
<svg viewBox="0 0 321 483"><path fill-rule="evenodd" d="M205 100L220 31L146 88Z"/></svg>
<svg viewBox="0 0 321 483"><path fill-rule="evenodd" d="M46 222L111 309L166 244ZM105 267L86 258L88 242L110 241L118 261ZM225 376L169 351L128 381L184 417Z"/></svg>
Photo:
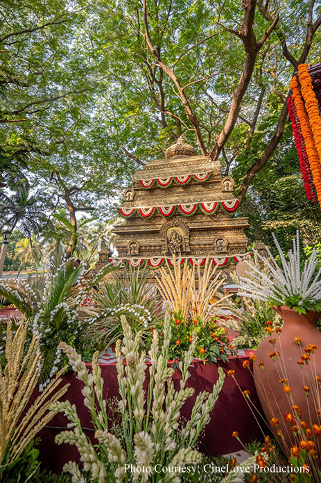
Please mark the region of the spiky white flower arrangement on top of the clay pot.
<svg viewBox="0 0 321 483"><path fill-rule="evenodd" d="M241 278L238 295L270 302L272 305L286 305L298 313L321 311L321 270L318 269L317 252L313 249L311 258L300 260L299 232L293 238L293 250L288 251L288 260L282 252L277 238L272 234L281 259L281 268L268 250L268 258L257 256L269 275L254 265L249 265L248 278ZM255 252L255 251L254 251Z"/></svg>

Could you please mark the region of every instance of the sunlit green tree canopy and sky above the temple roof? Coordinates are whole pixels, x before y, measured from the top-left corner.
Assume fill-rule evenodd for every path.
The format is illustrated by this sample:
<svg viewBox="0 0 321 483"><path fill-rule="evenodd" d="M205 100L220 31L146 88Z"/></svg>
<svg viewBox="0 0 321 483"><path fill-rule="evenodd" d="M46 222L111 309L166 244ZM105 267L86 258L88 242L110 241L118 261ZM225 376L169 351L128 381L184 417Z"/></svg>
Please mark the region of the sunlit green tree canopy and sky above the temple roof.
<svg viewBox="0 0 321 483"><path fill-rule="evenodd" d="M157 0L148 1L147 8L151 40L183 86L210 152L244 66L243 42L232 33L243 22L241 3ZM299 58L309 4L278 0L267 8L271 15L277 10L288 51ZM163 156L181 133L196 145L190 116L173 79L155 63L146 46L141 3L31 0L18 6L7 1L1 13L0 182L32 179L61 207L63 193L54 176L59 171L68 186L81 187L77 204L90 204L101 218L110 218L137 167ZM320 7L315 6L313 21L319 13ZM257 8L257 40L269 24ZM316 31L308 63L318 57L318 43ZM223 171L228 174L232 168L238 186L275 133L292 73L293 65L273 31L257 56L238 121L220 159ZM263 101L251 134L261 92ZM250 198L260 202L260 193L254 193L257 186L258 191L268 188L270 172L284 163L293 147L286 123L285 140L254 178ZM298 185L302 190L302 181ZM277 220L274 208L263 198L261 215L270 210L267 220ZM250 208L258 219L257 206ZM297 218L301 220L298 210ZM304 220L308 220L305 215Z"/></svg>

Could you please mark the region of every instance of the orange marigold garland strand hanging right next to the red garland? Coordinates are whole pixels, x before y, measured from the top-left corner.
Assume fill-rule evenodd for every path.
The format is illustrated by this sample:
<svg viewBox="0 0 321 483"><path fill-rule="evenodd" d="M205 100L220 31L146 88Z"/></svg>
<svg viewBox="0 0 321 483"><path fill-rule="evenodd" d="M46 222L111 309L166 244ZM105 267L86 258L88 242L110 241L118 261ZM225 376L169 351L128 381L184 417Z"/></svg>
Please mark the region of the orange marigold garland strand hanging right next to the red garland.
<svg viewBox="0 0 321 483"><path fill-rule="evenodd" d="M303 79L304 82L304 79ZM304 106L304 101L301 96L299 82L297 78L294 76L293 79L290 81L290 89L293 92L293 99L295 102L295 109L297 111L297 117L300 120L300 126L302 131L302 136L304 138L304 143L306 146L306 154L309 158L309 163L311 167L311 172L313 175L313 183L315 186L315 190L318 196L318 202L321 206L321 166L320 166L320 158L318 156L318 151L316 149L315 141L313 139L313 135L311 132L311 126L309 122L309 117L306 113L306 109ZM309 111L308 111L309 113ZM320 131L321 134L321 131Z"/></svg>

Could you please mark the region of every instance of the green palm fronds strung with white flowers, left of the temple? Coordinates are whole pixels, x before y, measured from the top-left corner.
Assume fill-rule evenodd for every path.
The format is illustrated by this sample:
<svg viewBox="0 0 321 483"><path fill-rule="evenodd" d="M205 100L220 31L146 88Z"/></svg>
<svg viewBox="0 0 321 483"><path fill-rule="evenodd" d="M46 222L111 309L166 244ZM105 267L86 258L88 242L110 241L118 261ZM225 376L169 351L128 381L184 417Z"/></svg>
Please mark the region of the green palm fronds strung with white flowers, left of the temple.
<svg viewBox="0 0 321 483"><path fill-rule="evenodd" d="M31 333L40 336L40 348L44 355L40 378L42 384L64 366L58 350L60 341L76 347L79 345L85 350L87 358L89 351L92 354L96 349L93 343L83 342L83 331L87 328L89 318L80 318L78 306L92 285L113 270L107 265L94 279L82 284L83 266L75 267L73 259L66 261L60 249L58 254L51 254L45 274L38 274L28 281L1 282L0 295L24 314Z"/></svg>

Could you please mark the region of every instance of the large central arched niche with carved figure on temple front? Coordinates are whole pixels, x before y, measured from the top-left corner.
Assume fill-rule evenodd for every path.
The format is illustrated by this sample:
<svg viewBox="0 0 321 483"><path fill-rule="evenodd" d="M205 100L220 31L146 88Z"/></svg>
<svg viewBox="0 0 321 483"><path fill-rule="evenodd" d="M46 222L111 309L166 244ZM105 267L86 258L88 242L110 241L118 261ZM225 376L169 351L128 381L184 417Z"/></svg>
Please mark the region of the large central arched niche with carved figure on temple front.
<svg viewBox="0 0 321 483"><path fill-rule="evenodd" d="M179 254L189 252L189 228L179 220L171 220L163 225L162 237L163 254Z"/></svg>

